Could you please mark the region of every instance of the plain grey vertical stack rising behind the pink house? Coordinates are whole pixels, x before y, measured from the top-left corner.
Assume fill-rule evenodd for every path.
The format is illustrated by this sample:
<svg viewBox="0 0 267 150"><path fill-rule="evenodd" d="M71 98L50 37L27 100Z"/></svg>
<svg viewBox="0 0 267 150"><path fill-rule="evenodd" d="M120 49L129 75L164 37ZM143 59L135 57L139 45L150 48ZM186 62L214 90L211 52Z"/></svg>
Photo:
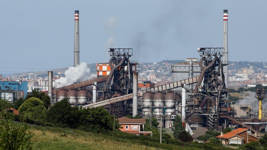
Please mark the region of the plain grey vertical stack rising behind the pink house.
<svg viewBox="0 0 267 150"><path fill-rule="evenodd" d="M137 115L138 73L133 73L133 117Z"/></svg>

